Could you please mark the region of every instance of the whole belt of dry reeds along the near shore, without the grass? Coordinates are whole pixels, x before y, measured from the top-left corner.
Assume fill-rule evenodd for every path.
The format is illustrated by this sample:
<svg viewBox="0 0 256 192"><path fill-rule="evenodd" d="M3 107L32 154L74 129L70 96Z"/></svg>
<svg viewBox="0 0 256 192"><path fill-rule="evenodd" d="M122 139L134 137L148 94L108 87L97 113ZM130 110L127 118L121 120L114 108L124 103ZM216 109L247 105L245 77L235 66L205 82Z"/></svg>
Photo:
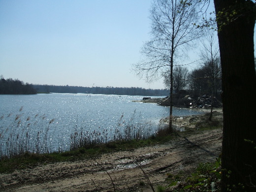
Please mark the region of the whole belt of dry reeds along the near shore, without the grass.
<svg viewBox="0 0 256 192"><path fill-rule="evenodd" d="M0 159L13 158L25 153L47 154L91 148L93 146L113 142L146 139L152 136L153 125L150 122L138 121L142 119L136 110L128 121L121 115L113 128L92 129L79 124L78 116L73 131L67 141L61 132L55 133L57 123L55 119L47 119L45 114L26 116L20 108L17 115L8 114L0 117ZM7 123L11 122L11 123ZM71 128L72 129L72 128ZM58 140L58 147L53 146L53 137ZM64 146L69 146L65 147Z"/></svg>

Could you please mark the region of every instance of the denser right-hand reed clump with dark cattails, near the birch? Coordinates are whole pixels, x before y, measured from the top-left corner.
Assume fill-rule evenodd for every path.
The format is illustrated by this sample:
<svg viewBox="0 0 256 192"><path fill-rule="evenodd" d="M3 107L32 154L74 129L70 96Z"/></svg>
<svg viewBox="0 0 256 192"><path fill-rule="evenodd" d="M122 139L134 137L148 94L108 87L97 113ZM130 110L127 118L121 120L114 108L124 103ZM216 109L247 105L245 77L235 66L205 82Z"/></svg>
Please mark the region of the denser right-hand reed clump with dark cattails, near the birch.
<svg viewBox="0 0 256 192"><path fill-rule="evenodd" d="M140 117L140 114L139 116ZM70 135L70 150L76 150L79 148L91 148L99 144L115 141L129 141L147 139L152 136L153 125L150 122L135 121L140 119L137 117L136 110L134 110L129 121L124 120L124 115L121 115L115 128L110 129L98 129L91 131L83 131L85 128L80 128L80 131L74 130L74 133Z"/></svg>

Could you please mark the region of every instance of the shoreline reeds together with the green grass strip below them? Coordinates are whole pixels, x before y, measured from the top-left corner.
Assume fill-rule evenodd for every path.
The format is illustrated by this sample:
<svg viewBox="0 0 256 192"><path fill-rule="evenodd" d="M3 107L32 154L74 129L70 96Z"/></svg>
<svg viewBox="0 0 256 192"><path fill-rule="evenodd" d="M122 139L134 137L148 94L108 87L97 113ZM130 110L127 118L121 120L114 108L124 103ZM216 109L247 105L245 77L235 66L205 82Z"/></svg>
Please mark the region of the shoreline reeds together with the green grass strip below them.
<svg viewBox="0 0 256 192"><path fill-rule="evenodd" d="M118 126L112 130L85 131L76 124L74 133L69 138L69 150L63 151L59 148L58 151L52 151L49 135L54 135L54 132L50 131L54 129L55 120L47 120L45 115L24 118L22 110L21 107L20 113L16 116L9 114L0 119L4 123L9 120L8 118L14 117L13 123L5 129L3 123L0 127L0 173L45 163L92 159L103 153L162 143L171 138L166 134L161 136L162 131L153 134L150 124L134 121L137 119L134 111L128 122L123 120L122 115L117 123ZM112 138L109 137L110 133L113 133Z"/></svg>

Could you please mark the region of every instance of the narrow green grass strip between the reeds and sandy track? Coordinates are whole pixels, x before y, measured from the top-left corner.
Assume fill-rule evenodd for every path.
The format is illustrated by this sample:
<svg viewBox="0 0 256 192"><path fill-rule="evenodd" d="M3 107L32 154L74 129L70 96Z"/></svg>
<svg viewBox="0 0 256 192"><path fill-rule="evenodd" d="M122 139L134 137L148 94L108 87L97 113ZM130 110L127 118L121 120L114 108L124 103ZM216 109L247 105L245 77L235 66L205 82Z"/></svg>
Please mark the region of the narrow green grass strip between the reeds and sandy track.
<svg viewBox="0 0 256 192"><path fill-rule="evenodd" d="M152 136L148 139L117 140L108 143L88 145L65 152L53 152L45 154L26 152L13 158L0 160L0 173L10 173L16 169L35 167L39 164L47 164L61 161L74 161L81 159L95 159L104 153L113 153L120 150L131 150L148 145L164 143L173 138L173 135Z"/></svg>

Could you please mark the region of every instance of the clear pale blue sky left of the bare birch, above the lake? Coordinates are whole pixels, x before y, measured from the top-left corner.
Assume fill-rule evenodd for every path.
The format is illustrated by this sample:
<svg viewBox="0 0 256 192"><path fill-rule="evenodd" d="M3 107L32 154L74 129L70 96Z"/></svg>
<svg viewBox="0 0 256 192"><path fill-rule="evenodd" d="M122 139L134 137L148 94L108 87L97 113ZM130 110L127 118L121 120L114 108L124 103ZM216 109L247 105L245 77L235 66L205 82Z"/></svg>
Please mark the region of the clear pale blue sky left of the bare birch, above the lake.
<svg viewBox="0 0 256 192"><path fill-rule="evenodd" d="M150 6L151 0L0 0L0 75L32 84L164 89L162 79L148 84L131 70L150 40Z"/></svg>

